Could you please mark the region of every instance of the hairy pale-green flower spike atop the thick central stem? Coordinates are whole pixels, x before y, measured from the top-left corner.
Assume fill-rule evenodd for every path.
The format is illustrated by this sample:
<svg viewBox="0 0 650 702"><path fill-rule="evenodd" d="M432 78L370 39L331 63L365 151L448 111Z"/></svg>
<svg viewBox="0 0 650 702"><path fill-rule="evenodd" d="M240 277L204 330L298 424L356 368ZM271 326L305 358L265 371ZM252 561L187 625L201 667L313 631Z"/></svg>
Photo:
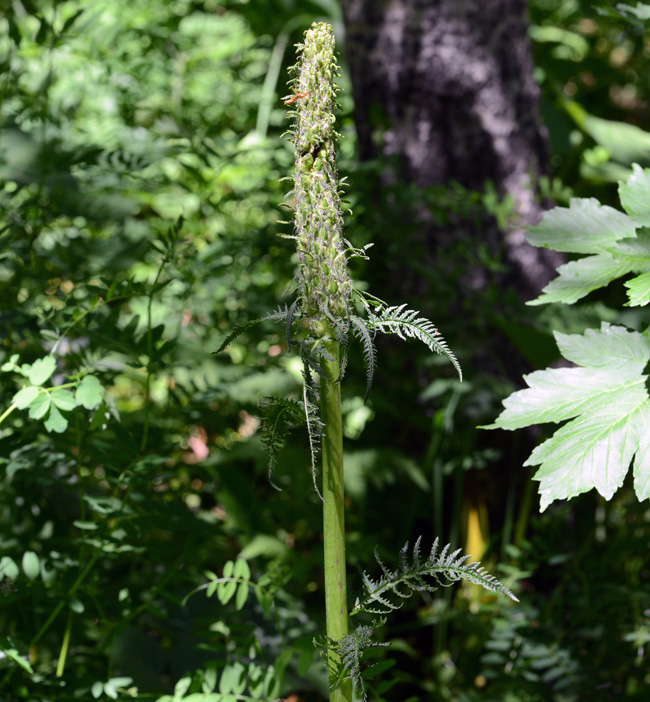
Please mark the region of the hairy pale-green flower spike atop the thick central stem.
<svg viewBox="0 0 650 702"><path fill-rule="evenodd" d="M335 160L334 109L338 75L332 28L312 24L299 45L301 56L291 81L294 95L290 130L296 148L294 175L298 282L302 314L312 332L322 336L333 325L345 326L352 298L339 179Z"/></svg>

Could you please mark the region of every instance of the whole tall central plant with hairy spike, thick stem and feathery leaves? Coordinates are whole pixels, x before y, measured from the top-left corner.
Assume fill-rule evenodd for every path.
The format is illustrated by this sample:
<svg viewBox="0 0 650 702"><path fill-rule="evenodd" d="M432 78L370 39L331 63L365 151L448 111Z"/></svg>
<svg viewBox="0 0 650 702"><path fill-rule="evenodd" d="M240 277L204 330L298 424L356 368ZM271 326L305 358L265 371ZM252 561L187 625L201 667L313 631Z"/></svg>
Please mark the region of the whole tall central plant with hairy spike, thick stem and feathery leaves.
<svg viewBox="0 0 650 702"><path fill-rule="evenodd" d="M427 557L420 553L420 540L400 554L395 570L384 565L376 554L382 576L373 580L363 575L365 594L350 614L367 613L374 619L348 633L348 598L345 557L345 509L343 481L343 432L341 419L341 380L352 338L361 342L366 364L367 391L370 390L377 360L374 338L378 332L400 338L419 339L431 351L451 361L462 379L460 365L436 327L406 305L389 306L367 292L357 290L348 273L348 260L366 257L366 249L356 249L343 236L343 210L335 160L336 93L334 78L338 66L332 29L314 23L298 45L300 57L293 67L292 93L285 104L293 125L288 134L295 146L293 189L293 233L298 268L294 279L295 298L284 309L237 326L219 351L246 328L262 321L284 322L288 349L299 350L302 360L301 399L266 398L263 440L269 451L269 476L278 461L278 452L289 431L305 424L309 436L314 486L323 503L325 571L326 649L332 702L351 702L353 686L365 697L362 659L364 651L376 647L373 630L384 616L400 607L414 592L432 592L466 579L487 590L514 595L469 556L451 552L438 542ZM288 222L286 224L289 224ZM322 448L322 491L318 488L316 456ZM365 665L365 663L364 663Z"/></svg>

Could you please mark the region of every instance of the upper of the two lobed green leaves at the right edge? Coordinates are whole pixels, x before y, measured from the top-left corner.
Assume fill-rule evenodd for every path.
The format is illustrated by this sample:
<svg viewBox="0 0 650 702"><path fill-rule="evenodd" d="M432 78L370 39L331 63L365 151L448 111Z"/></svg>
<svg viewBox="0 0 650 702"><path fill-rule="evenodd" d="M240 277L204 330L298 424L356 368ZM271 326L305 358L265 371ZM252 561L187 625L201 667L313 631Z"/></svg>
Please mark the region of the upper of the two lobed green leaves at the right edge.
<svg viewBox="0 0 650 702"><path fill-rule="evenodd" d="M625 283L628 304L650 302L650 170L635 164L628 182L619 185L619 196L625 214L593 198L574 199L568 208L547 212L530 230L527 238L535 246L590 255L560 266L558 277L528 304L573 304L628 273L639 274Z"/></svg>

